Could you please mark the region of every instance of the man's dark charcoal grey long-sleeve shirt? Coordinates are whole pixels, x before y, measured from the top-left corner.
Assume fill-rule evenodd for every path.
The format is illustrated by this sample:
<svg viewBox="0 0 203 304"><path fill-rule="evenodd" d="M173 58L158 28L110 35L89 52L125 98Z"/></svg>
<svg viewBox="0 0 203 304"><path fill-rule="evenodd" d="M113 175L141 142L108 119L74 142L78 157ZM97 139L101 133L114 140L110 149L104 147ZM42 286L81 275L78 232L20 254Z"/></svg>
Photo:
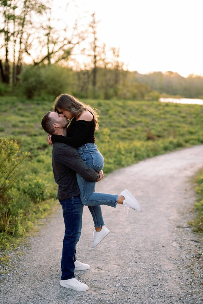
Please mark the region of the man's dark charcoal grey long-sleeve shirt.
<svg viewBox="0 0 203 304"><path fill-rule="evenodd" d="M79 157L77 150L64 143L53 143L52 167L55 182L58 184L57 198L61 200L80 194L76 172L89 181L99 178L99 174Z"/></svg>

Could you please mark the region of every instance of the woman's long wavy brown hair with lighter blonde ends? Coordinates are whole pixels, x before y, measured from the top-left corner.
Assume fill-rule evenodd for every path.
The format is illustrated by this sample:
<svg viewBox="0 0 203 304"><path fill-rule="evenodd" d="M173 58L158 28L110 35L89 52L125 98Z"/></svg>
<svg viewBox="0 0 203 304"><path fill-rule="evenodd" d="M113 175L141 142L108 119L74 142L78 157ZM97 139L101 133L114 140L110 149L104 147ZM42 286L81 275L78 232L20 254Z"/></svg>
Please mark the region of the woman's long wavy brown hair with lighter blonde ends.
<svg viewBox="0 0 203 304"><path fill-rule="evenodd" d="M93 109L90 105L86 105L74 96L69 94L59 95L55 99L54 112L59 113L58 109L67 110L71 112L71 114L75 117L80 116L84 111L89 111L94 116L96 122L96 130L99 130L99 115L97 113L99 110Z"/></svg>

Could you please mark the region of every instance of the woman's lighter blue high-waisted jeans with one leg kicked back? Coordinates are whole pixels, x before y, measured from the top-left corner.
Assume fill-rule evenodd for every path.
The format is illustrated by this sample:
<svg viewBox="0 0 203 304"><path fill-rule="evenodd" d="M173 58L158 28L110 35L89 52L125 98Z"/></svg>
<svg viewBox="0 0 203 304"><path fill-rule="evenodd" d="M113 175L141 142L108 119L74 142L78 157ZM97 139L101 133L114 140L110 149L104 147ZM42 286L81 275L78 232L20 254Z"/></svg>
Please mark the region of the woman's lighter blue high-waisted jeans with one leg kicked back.
<svg viewBox="0 0 203 304"><path fill-rule="evenodd" d="M97 172L102 170L104 159L102 154L97 150L95 143L86 143L77 148L79 156L90 168ZM95 192L95 182L88 181L77 173L77 182L80 189L80 199L83 205L88 206L92 214L94 226L101 227L104 225L101 206L107 205L116 207L118 195Z"/></svg>

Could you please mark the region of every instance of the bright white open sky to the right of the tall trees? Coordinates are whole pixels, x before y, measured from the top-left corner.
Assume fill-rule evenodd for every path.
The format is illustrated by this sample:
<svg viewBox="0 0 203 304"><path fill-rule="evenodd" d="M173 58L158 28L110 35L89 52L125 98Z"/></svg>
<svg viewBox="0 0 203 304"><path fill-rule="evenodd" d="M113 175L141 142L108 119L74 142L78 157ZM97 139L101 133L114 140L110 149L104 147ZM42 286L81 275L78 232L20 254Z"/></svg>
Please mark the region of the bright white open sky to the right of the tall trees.
<svg viewBox="0 0 203 304"><path fill-rule="evenodd" d="M54 0L63 7L68 1ZM119 47L130 71L203 75L203 0L75 0L64 15L84 22L95 11L97 36Z"/></svg>

